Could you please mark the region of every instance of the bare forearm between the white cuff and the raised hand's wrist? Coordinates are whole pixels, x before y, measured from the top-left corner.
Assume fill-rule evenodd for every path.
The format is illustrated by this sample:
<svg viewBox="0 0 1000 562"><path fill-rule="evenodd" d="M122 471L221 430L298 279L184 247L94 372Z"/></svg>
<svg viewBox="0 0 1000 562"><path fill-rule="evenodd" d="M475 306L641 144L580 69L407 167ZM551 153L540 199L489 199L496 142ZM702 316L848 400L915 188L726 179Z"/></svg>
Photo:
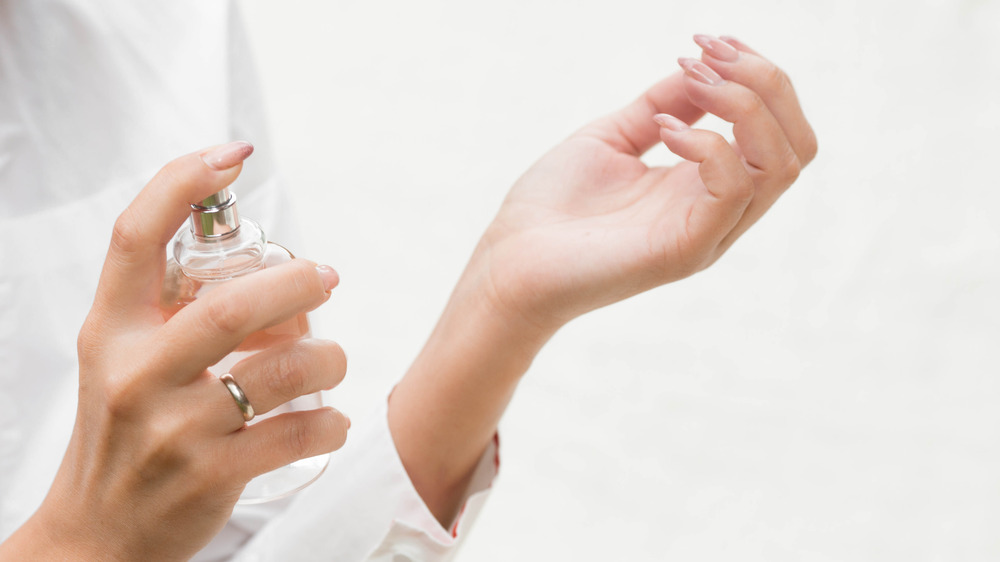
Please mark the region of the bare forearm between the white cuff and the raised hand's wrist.
<svg viewBox="0 0 1000 562"><path fill-rule="evenodd" d="M389 401L389 428L417 492L447 526L507 403L554 329L499 302L480 253Z"/></svg>

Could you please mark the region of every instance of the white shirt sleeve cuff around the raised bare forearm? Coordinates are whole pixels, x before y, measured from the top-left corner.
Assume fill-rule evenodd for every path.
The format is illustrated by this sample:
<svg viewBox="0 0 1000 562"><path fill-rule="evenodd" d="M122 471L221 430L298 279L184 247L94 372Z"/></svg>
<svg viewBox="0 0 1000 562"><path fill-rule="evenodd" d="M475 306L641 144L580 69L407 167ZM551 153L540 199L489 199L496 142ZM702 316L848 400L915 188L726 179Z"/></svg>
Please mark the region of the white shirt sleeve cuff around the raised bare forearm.
<svg viewBox="0 0 1000 562"><path fill-rule="evenodd" d="M466 491L463 508L445 529L431 515L396 452L383 402L355 422L347 444L326 472L280 513L237 507L226 530L196 560L239 562L438 562L451 560L486 501L499 469L494 437ZM238 551L237 551L238 549ZM234 552L235 551L235 552Z"/></svg>

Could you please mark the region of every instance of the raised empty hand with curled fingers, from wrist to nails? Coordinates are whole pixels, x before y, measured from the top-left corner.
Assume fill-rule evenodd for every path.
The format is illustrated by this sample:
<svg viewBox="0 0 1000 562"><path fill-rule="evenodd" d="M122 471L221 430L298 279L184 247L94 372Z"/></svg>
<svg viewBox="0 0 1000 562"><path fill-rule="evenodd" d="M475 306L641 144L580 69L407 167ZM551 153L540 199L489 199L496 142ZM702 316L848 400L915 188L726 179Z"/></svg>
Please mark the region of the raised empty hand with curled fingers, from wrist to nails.
<svg viewBox="0 0 1000 562"><path fill-rule="evenodd" d="M813 159L785 74L735 39L695 40L702 61L681 59L684 73L578 131L511 190L473 258L499 309L551 332L700 271ZM706 111L733 123L734 143L685 123ZM647 167L659 140L687 161Z"/></svg>

